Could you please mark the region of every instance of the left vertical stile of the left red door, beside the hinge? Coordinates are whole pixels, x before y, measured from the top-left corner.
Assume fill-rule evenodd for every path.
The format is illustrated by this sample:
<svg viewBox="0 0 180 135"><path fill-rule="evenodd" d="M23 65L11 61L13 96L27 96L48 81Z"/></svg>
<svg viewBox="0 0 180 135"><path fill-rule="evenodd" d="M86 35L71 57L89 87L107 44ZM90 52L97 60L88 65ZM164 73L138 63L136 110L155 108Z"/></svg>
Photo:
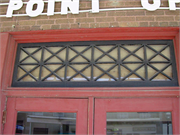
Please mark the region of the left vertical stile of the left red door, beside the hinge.
<svg viewBox="0 0 180 135"><path fill-rule="evenodd" d="M7 101L7 116L3 134L14 134L16 128L16 98L8 98Z"/></svg>

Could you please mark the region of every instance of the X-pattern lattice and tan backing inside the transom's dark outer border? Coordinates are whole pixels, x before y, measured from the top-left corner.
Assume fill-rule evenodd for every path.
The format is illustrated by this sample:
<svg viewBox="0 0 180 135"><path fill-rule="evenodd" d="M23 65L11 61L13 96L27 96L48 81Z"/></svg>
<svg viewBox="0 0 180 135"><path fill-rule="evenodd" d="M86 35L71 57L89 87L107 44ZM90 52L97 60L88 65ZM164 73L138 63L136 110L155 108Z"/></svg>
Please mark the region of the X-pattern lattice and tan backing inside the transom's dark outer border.
<svg viewBox="0 0 180 135"><path fill-rule="evenodd" d="M165 70L172 66L171 58L164 55L163 51L168 50L170 53L170 46L164 45L161 49L156 50L153 45L147 44L112 44L112 45L64 45L54 46L56 49L52 50L53 46L34 46L33 51L28 51L28 47L21 47L18 61L18 72L24 74L17 75L17 81L48 81L48 78L54 76L54 81L73 81L75 77L83 78L85 81L103 81L103 78L109 78L109 81L128 81L132 75L138 78L138 81L153 81L159 75L162 75L168 80L172 80L172 71L165 72ZM161 45L156 45L161 46ZM59 49L58 49L59 47ZM83 49L79 48L82 47ZM107 48L108 47L108 48ZM33 47L29 47L33 48ZM148 50L153 53L147 58ZM59 56L64 51L65 58ZM141 51L141 53L139 53ZM73 56L71 56L73 54ZM48 55L48 56L47 56ZM123 56L122 56L123 55ZM153 60L160 56L164 61ZM133 57L137 60L127 60ZM56 58L55 61L52 61ZM106 60L108 58L108 60ZM28 60L31 59L31 60ZM79 61L75 61L79 59ZM49 62L50 61L50 62ZM130 64L131 66L127 66ZM132 68L134 65L138 66ZM154 66L154 64L166 64L161 69ZM30 66L34 66L33 68ZM104 65L103 67L101 65ZM107 65L107 66L106 66ZM27 68L24 68L26 66ZM28 68L29 66L29 68ZM56 68L50 68L55 67ZM117 68L116 68L117 67ZM150 76L148 67L154 70L154 74ZM36 75L32 74L39 68ZM90 68L88 75L83 72ZM126 70L123 70L123 68ZM44 73L46 69L48 73ZM139 73L139 70L143 69ZM62 70L62 71L61 71ZM57 72L61 71L59 74ZM169 73L170 72L170 73ZM98 73L98 74L96 74ZM113 74L112 74L113 73ZM125 75L123 75L125 73ZM43 74L45 74L43 76ZM29 78L29 79L25 79ZM51 79L52 80L52 79Z"/></svg>

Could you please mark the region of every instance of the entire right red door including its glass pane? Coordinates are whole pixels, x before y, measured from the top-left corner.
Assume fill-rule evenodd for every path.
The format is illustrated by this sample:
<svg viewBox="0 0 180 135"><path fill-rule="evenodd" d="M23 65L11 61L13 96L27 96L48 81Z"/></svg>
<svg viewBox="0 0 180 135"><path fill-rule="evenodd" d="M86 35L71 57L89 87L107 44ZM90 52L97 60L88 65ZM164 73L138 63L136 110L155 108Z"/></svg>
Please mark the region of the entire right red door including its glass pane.
<svg viewBox="0 0 180 135"><path fill-rule="evenodd" d="M177 134L175 105L178 106L178 99L173 98L96 99L94 134Z"/></svg>

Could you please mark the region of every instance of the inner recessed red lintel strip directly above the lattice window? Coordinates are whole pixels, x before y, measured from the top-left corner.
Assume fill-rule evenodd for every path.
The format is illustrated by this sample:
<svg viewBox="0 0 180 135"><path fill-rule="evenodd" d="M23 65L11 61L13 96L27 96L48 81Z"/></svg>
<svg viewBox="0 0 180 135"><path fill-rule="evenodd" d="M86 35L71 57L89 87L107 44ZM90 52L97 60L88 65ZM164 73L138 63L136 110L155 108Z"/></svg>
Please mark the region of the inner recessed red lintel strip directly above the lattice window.
<svg viewBox="0 0 180 135"><path fill-rule="evenodd" d="M102 36L99 36L102 35ZM99 40L152 40L152 39L172 39L176 33L170 33L170 35L164 36L163 33L158 33L158 35L153 35L154 32L149 32L149 34L146 33L140 33L137 35L137 33L130 34L130 33L98 33L98 34L64 34L64 35L44 35L43 38L39 39L39 35L34 36L24 36L23 38L14 36L15 40L18 41L18 43L33 43L33 42L67 42L67 41L99 41ZM153 35L153 36L152 36ZM42 36L42 35L40 35ZM69 39L67 39L69 38Z"/></svg>

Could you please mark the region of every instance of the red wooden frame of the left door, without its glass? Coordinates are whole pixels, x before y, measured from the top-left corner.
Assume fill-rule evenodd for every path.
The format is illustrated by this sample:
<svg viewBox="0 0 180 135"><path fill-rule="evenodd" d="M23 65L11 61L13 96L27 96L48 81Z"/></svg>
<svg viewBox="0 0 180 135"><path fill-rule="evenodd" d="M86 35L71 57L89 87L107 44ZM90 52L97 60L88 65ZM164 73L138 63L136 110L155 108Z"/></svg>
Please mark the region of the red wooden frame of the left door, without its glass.
<svg viewBox="0 0 180 135"><path fill-rule="evenodd" d="M9 98L4 134L15 134L18 111L76 113L76 134L87 134L87 99Z"/></svg>

